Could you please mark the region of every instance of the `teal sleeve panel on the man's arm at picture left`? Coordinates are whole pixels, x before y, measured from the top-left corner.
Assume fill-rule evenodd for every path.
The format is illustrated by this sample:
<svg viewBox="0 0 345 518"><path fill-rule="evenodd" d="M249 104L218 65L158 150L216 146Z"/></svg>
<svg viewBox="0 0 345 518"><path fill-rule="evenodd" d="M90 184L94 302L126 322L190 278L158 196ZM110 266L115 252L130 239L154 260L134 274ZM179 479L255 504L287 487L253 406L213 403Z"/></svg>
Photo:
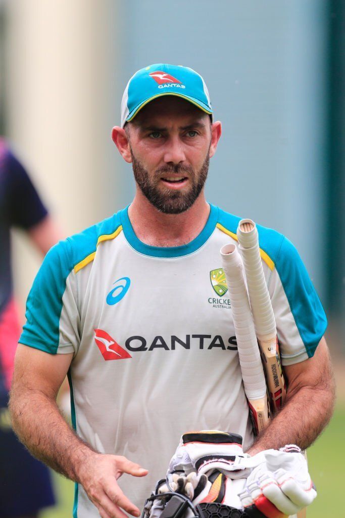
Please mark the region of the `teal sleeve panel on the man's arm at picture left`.
<svg viewBox="0 0 345 518"><path fill-rule="evenodd" d="M56 354L60 343L59 322L63 308L66 279L73 269L71 244L60 241L44 257L26 301L26 324L20 343Z"/></svg>

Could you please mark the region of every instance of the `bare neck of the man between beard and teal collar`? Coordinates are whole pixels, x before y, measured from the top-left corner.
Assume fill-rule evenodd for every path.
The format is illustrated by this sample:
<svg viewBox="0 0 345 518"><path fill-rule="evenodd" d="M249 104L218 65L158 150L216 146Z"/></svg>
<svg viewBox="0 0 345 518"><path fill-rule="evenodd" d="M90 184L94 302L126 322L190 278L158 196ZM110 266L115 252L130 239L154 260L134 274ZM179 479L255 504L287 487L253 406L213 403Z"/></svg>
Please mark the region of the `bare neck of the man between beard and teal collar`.
<svg viewBox="0 0 345 518"><path fill-rule="evenodd" d="M178 247L196 238L204 228L209 215L204 191L194 204L181 214L159 212L137 190L128 215L138 239L154 247Z"/></svg>

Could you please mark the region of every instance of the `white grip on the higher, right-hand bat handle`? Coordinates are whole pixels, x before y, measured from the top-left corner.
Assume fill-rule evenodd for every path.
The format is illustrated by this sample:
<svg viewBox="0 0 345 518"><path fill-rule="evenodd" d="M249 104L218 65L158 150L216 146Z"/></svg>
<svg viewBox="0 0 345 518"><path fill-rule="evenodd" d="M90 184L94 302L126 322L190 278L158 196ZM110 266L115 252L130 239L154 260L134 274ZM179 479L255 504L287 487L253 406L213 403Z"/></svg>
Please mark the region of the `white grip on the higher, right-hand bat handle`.
<svg viewBox="0 0 345 518"><path fill-rule="evenodd" d="M251 223L252 230L241 231L243 223ZM276 321L262 267L259 236L255 223L251 220L241 220L237 228L237 237L245 266L250 306L258 338L274 340L277 334Z"/></svg>

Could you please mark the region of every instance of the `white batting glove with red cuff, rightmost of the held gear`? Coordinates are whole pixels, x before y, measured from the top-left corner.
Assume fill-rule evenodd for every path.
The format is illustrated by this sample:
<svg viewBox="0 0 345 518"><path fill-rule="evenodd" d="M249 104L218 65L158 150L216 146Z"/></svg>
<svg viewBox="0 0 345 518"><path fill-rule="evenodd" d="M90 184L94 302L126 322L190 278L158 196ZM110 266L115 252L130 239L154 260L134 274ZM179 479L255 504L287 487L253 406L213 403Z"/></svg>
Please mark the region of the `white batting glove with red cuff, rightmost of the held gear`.
<svg viewBox="0 0 345 518"><path fill-rule="evenodd" d="M281 513L290 516L316 498L306 459L296 445L258 455L264 457L264 462L253 469L238 495L248 516L278 518Z"/></svg>

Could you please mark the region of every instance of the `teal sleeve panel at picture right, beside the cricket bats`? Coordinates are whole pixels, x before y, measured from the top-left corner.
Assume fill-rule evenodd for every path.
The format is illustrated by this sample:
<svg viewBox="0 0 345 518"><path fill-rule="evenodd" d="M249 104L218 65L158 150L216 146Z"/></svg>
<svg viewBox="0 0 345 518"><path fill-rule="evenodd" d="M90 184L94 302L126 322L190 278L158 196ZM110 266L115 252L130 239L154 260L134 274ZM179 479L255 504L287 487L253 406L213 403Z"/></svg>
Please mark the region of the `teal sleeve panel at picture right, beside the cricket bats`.
<svg viewBox="0 0 345 518"><path fill-rule="evenodd" d="M326 330L327 318L301 257L287 238L281 242L275 267L299 335L311 357Z"/></svg>

